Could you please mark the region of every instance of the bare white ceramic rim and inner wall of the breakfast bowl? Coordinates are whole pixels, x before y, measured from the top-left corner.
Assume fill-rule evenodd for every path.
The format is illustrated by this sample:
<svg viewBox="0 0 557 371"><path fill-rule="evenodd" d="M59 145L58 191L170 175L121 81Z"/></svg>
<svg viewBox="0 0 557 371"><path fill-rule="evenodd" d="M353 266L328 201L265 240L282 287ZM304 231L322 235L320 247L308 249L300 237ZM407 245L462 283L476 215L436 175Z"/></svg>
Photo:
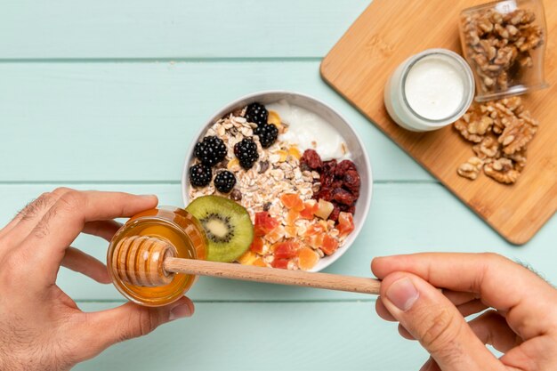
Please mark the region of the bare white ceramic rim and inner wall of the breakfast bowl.
<svg viewBox="0 0 557 371"><path fill-rule="evenodd" d="M371 193L373 188L371 165L369 164L369 158L367 157L366 148L363 146L362 142L359 140L358 134L354 132L354 129L348 123L348 121L346 121L344 117L342 117L338 112L336 112L335 109L332 109L330 106L328 106L327 103L301 93L266 91L246 95L222 107L222 109L219 109L213 117L210 117L206 121L206 123L201 126L198 135L193 139L193 141L191 141L188 156L186 156L186 161L184 163L182 171L182 198L184 205L188 205L190 203L190 197L188 195L188 190L190 188L189 169L193 161L193 147L205 136L207 129L211 125L213 125L214 122L217 121L219 118L230 113L234 109L245 107L246 105L253 103L254 101L261 102L262 104L269 104L280 100L285 100L292 105L302 107L303 109L308 109L311 112L318 114L320 117L324 118L330 125L333 125L336 130L339 131L339 133L342 133L343 139L351 152L351 160L354 162L354 164L356 164L359 176L361 178L359 199L358 203L356 204L356 214L354 214L355 229L351 232L348 238L346 238L344 245L340 247L335 252L335 254L320 259L317 265L312 269L312 271L319 271L327 268L330 264L340 258L354 243L356 238L358 238L359 231L366 221L367 214L369 212L369 206L371 204Z"/></svg>

